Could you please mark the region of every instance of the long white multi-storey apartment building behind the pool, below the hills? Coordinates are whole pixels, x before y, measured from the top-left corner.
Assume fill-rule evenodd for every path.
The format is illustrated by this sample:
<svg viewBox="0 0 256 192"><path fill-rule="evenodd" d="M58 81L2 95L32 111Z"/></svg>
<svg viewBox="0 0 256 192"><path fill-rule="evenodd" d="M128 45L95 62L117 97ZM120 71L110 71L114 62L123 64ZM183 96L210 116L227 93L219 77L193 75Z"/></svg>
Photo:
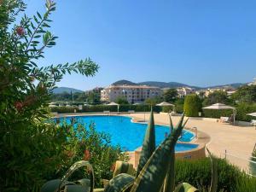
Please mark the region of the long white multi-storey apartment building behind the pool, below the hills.
<svg viewBox="0 0 256 192"><path fill-rule="evenodd" d="M101 91L102 102L115 102L119 96L125 97L130 102L144 102L148 98L161 96L162 90L159 87L146 85L110 85Z"/></svg>

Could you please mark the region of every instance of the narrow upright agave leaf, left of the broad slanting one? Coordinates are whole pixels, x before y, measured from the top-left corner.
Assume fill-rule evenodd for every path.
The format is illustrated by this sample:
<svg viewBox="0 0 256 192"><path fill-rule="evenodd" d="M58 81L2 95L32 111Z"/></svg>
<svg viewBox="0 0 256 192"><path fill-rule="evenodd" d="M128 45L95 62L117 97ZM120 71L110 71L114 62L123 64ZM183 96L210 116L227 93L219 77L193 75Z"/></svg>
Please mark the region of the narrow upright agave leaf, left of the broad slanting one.
<svg viewBox="0 0 256 192"><path fill-rule="evenodd" d="M150 156L154 153L154 149L155 149L154 113L153 113L153 109L151 108L148 127L143 140L143 148L141 151L139 164L137 166L137 176L142 171L143 166L145 166Z"/></svg>

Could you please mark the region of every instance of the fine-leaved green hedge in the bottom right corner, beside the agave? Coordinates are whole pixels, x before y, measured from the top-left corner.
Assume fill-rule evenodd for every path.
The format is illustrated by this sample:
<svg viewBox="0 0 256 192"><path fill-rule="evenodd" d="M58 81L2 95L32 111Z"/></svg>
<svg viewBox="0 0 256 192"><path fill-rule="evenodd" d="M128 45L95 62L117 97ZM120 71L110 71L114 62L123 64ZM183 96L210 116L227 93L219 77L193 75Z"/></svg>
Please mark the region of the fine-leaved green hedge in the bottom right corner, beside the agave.
<svg viewBox="0 0 256 192"><path fill-rule="evenodd" d="M245 192L256 189L256 177L248 177L238 167L230 165L226 160L218 162L218 190ZM187 182L200 191L211 185L211 162L208 158L201 160L176 160L176 184ZM241 181L242 186L241 186Z"/></svg>

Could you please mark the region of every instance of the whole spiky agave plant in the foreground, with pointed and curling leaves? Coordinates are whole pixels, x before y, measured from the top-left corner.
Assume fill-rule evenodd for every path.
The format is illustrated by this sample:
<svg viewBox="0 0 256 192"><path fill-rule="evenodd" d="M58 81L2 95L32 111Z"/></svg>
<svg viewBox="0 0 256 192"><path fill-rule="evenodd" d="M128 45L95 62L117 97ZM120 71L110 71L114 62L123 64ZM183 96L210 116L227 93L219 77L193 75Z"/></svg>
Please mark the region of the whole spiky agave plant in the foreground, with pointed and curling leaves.
<svg viewBox="0 0 256 192"><path fill-rule="evenodd" d="M136 177L122 173L113 177L108 183L105 192L195 192L199 191L189 183L181 183L175 188L174 162L175 145L181 136L183 127L188 122L184 121L184 114L174 128L170 117L170 134L155 148L154 114L151 110L148 128L143 141L143 148ZM212 185L210 192L217 191L217 165L212 154Z"/></svg>

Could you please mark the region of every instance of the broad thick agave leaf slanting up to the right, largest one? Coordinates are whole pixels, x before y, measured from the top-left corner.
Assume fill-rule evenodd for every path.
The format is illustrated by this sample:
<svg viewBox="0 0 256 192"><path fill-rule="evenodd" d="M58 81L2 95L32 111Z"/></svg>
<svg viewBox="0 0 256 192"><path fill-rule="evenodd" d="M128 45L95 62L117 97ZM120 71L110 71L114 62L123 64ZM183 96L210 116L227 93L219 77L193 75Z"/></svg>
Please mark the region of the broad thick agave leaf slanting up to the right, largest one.
<svg viewBox="0 0 256 192"><path fill-rule="evenodd" d="M143 166L143 170L135 179L131 192L160 191L170 166L175 144L183 130L183 118L184 115L180 119L177 128L155 149L154 154Z"/></svg>

